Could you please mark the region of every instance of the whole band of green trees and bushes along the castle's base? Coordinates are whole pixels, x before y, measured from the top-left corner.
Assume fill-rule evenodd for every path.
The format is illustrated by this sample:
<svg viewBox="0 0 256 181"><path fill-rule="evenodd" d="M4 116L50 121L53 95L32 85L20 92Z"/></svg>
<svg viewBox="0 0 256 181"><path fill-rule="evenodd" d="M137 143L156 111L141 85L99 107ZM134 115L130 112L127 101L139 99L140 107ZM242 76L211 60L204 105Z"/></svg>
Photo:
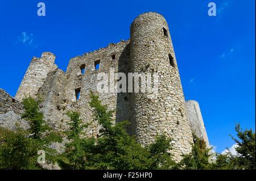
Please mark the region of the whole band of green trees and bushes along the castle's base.
<svg viewBox="0 0 256 181"><path fill-rule="evenodd" d="M183 155L183 159L175 163L170 152L170 138L159 135L154 143L141 146L134 136L126 132L129 121L114 123L113 111L102 105L93 92L90 97L94 121L100 125L99 134L88 137L86 128L89 123L84 123L78 112L68 112L70 122L66 136L69 142L61 155L50 148L52 142L60 142L61 137L44 121L43 113L39 110L40 100L30 97L23 99L22 118L30 128L24 130L18 127L11 131L0 127L0 169L42 169L37 159L38 151L44 150L48 163L57 160L62 169L255 170L255 132L251 129L243 131L240 124L235 127L237 138L232 136L238 145L238 155L217 153L212 160L209 154L211 149L207 148L204 140L193 134L191 153Z"/></svg>

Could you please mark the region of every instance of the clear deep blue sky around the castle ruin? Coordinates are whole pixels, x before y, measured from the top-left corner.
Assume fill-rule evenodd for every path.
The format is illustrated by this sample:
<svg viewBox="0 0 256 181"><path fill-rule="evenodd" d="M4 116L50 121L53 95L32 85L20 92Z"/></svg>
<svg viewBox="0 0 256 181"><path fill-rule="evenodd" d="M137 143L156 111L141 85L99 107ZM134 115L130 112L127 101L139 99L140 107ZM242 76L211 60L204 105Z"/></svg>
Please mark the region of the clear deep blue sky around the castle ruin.
<svg viewBox="0 0 256 181"><path fill-rule="evenodd" d="M170 27L185 99L200 103L210 144L234 144L234 123L255 130L255 1L40 1L0 3L0 87L15 95L33 56L70 58L129 39L139 14L156 11ZM208 16L215 2L217 16Z"/></svg>

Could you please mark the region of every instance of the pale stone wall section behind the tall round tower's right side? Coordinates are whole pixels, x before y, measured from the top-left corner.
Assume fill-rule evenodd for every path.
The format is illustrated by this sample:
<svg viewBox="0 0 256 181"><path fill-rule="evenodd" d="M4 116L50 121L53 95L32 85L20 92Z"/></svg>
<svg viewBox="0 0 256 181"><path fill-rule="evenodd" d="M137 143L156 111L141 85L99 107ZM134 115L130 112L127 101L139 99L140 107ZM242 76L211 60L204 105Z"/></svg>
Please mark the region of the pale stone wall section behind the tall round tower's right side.
<svg viewBox="0 0 256 181"><path fill-rule="evenodd" d="M204 126L203 116L199 107L199 103L195 100L187 100L186 108L188 112L188 120L191 123L192 131L195 132L196 136L203 138L205 144L210 148L207 132Z"/></svg>

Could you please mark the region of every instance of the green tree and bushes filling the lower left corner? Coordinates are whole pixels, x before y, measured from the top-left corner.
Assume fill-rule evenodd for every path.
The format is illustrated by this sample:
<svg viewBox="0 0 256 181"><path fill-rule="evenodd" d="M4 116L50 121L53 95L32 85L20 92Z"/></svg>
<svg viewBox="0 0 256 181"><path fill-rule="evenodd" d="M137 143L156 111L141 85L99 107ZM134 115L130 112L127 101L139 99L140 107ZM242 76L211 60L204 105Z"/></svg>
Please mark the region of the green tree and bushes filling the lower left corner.
<svg viewBox="0 0 256 181"><path fill-rule="evenodd" d="M0 129L0 168L1 169L42 169L37 162L38 151L46 152L47 162L55 162L56 151L49 146L52 142L60 142L61 137L43 120L43 113L39 111L40 101L31 97L22 101L25 119L30 128L17 128L10 131Z"/></svg>

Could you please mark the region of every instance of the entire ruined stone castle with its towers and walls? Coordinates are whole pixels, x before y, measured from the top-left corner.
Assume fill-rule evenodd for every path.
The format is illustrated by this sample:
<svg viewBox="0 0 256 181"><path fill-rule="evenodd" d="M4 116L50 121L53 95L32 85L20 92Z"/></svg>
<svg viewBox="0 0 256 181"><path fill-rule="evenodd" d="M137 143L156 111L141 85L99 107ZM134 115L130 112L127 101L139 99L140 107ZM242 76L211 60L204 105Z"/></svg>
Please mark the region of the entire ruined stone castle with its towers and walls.
<svg viewBox="0 0 256 181"><path fill-rule="evenodd" d="M111 70L126 75L158 74L158 94L151 99L152 92L97 92L97 74L110 74ZM87 135L97 136L100 127L89 106L91 90L100 96L102 104L115 110L115 122L131 122L127 131L135 134L142 145L166 134L172 138L171 151L176 161L191 151L192 132L209 147L199 104L184 100L168 24L160 14L139 15L131 24L130 40L72 58L66 72L57 69L52 53L32 58L15 99L0 90L0 126L12 128L15 120L22 121L22 99L28 95L40 96L43 98L40 110L51 127L67 129L66 112L78 111L81 119L90 123Z"/></svg>

